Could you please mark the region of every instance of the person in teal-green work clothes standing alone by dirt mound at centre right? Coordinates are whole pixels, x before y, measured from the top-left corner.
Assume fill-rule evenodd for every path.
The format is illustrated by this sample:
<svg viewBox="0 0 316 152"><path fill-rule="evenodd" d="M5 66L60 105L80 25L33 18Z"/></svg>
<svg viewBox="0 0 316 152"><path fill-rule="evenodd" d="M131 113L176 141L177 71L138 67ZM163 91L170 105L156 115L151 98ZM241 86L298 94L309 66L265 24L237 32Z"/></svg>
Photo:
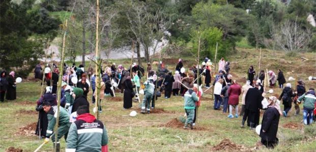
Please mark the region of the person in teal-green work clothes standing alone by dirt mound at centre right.
<svg viewBox="0 0 316 152"><path fill-rule="evenodd" d="M194 119L194 109L195 102L198 101L198 97L196 95L197 86L193 86L193 89L189 89L184 94L184 109L187 114L188 119L184 123L183 129L193 129L193 119Z"/></svg>

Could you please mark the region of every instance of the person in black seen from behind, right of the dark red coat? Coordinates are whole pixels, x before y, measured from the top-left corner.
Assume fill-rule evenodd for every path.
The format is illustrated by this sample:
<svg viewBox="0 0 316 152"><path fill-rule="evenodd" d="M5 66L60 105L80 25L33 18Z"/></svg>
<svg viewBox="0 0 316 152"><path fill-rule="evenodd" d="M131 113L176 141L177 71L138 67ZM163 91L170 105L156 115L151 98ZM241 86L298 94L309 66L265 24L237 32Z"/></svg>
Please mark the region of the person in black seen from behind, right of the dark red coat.
<svg viewBox="0 0 316 152"><path fill-rule="evenodd" d="M259 90L259 85L256 83L254 88L249 88L245 96L245 115L241 122L241 127L244 128L245 121L248 118L247 125L250 129L255 129L258 125L260 109L262 109L261 101L263 100L262 93Z"/></svg>

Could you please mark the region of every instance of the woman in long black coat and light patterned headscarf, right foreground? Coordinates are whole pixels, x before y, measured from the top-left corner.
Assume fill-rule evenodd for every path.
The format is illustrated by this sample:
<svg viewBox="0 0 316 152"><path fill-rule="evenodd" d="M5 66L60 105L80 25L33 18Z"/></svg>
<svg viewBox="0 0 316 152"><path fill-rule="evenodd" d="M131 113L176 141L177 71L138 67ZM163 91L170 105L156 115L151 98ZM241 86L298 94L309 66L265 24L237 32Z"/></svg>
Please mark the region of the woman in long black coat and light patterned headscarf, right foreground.
<svg viewBox="0 0 316 152"><path fill-rule="evenodd" d="M278 132L279 120L281 110L279 101L275 96L269 97L268 109L265 111L262 119L262 127L260 130L261 143L264 144L267 148L274 148L279 142L279 139L276 137Z"/></svg>

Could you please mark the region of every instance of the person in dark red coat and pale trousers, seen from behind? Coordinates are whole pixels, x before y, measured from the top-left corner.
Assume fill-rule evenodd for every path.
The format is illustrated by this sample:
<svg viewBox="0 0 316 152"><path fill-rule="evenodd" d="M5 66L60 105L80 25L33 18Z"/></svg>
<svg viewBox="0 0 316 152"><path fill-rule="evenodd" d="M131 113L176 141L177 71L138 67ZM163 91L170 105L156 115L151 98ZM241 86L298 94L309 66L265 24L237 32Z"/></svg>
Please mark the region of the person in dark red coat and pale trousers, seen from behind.
<svg viewBox="0 0 316 152"><path fill-rule="evenodd" d="M228 104L229 104L229 115L228 118L234 118L233 107L235 107L235 118L238 118L238 104L239 95L241 94L241 87L237 84L236 80L233 80L233 84L228 88Z"/></svg>

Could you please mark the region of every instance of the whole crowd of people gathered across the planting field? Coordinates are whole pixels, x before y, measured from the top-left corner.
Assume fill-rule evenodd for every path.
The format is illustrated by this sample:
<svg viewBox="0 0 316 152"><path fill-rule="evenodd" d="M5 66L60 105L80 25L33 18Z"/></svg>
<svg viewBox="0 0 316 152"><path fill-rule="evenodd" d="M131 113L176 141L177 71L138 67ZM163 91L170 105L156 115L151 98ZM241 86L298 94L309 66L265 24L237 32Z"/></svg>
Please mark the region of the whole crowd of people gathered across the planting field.
<svg viewBox="0 0 316 152"><path fill-rule="evenodd" d="M257 75L251 65L248 69L248 79L246 82L237 82L231 72L229 62L221 58L218 62L218 70L212 71L214 65L211 60L205 58L201 65L193 65L185 69L183 60L179 59L175 72L167 69L163 62L158 63L158 69L154 70L151 63L148 63L147 71L140 65L133 63L125 68L123 65L116 66L112 63L110 66L99 69L101 75L100 92L98 101L96 101L96 74L90 66L87 71L80 64L68 66L64 64L64 69L60 70L55 64L47 64L42 70L41 65L35 67L35 78L42 80L47 87L44 93L37 101L36 110L39 111L36 134L49 141L53 135L53 126L55 126L55 115L57 108L57 85L60 72L62 77L60 121L58 130L58 141L65 136L68 151L93 150L93 146L99 149L106 148L107 135L105 126L94 116L90 114L88 93L92 91L91 103L98 102L99 112L102 112L101 101L105 96L115 96L116 90L123 93L123 109L133 107L134 102L140 102L141 113L150 113L155 108L155 100L164 92L164 98L169 99L171 95L182 96L184 99L184 109L187 119L184 123L184 129L193 129L196 120L196 111L200 105L200 97L204 93L201 86L205 86L205 91L213 87L214 110L222 110L230 119L242 117L241 128L245 128L245 123L250 129L255 129L260 124L260 111L265 110L260 137L261 142L267 147L273 148L278 143L276 137L280 116L288 117L292 104L295 105L295 115L300 112L300 103L303 103L303 122L305 125L312 124L315 121L315 91L310 88L307 92L303 81L297 81L296 89L293 90L290 83L286 83L283 72L278 69L278 75L272 70L265 73L261 70ZM214 70L214 69L213 69ZM44 75L43 75L44 74ZM267 75L266 75L267 74ZM213 76L213 77L212 77ZM266 76L268 78L266 78ZM7 100L16 99L15 73L11 71L7 76L6 71L1 72L1 101L4 101L6 94ZM141 78L146 78L142 83ZM213 81L212 81L213 78ZM270 88L276 86L278 81L282 93L279 98L270 96L267 98L268 104L263 106L262 102L267 96L267 89L264 88L265 79ZM240 83L245 85L240 86ZM285 86L283 86L285 84ZM44 84L43 84L44 85ZM91 88L91 89L90 89ZM144 94L140 101L140 94ZM239 97L241 97L241 107L239 106ZM133 100L133 98L135 99ZM280 101L284 109L280 108ZM95 112L95 111L94 111ZM93 126L92 129L90 126ZM90 131L87 131L90 130ZM67 136L68 135L68 136ZM80 136L80 138L79 138ZM96 137L90 139L90 137ZM88 139L89 138L89 139ZM84 144L88 144L85 146Z"/></svg>

